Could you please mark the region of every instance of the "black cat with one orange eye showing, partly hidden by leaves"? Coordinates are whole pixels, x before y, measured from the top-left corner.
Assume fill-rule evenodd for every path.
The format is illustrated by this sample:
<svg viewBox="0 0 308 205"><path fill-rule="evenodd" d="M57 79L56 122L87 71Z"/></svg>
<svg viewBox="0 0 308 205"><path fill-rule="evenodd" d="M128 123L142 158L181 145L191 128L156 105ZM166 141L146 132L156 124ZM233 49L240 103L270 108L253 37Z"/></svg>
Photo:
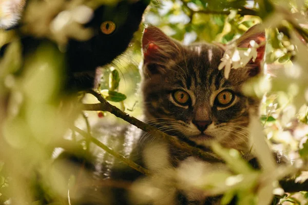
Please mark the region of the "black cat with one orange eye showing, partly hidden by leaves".
<svg viewBox="0 0 308 205"><path fill-rule="evenodd" d="M46 41L41 37L23 34L20 30L25 24L23 12L31 2L34 1L14 0L1 5L7 17L0 18L0 26L3 29L16 29L21 32L24 54L32 52L40 43ZM133 34L139 29L149 2L120 1L113 5L102 5L94 10L93 17L83 25L84 28L91 28L94 35L88 40L70 38L67 42L67 70L64 83L66 90L75 92L91 89L96 85L97 68L111 63L127 49ZM7 45L1 48L0 57Z"/></svg>

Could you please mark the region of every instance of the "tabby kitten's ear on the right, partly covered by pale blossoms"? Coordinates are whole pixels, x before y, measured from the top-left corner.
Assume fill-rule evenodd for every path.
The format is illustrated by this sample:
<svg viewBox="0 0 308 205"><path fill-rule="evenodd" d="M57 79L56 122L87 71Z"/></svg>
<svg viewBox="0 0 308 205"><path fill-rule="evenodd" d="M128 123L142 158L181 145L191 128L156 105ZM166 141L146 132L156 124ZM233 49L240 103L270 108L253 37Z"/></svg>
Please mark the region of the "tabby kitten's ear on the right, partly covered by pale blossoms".
<svg viewBox="0 0 308 205"><path fill-rule="evenodd" d="M253 61L251 59L249 63L246 65L247 74L249 77L253 77L262 72L262 62L265 53L265 30L261 24L257 24L251 28L249 28L239 39L237 39L237 47L238 48L251 48L252 40L255 41L259 45L257 48L257 57Z"/></svg>

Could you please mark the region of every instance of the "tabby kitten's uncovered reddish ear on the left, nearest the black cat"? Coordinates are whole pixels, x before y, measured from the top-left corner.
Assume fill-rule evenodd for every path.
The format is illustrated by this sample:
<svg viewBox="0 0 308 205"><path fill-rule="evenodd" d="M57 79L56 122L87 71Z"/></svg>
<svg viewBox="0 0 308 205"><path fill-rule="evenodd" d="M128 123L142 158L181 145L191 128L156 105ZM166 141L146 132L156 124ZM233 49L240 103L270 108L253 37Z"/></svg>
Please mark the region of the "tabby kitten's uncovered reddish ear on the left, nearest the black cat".
<svg viewBox="0 0 308 205"><path fill-rule="evenodd" d="M148 26L142 37L143 67L146 74L163 72L168 61L181 53L181 45L169 38L159 28Z"/></svg>

